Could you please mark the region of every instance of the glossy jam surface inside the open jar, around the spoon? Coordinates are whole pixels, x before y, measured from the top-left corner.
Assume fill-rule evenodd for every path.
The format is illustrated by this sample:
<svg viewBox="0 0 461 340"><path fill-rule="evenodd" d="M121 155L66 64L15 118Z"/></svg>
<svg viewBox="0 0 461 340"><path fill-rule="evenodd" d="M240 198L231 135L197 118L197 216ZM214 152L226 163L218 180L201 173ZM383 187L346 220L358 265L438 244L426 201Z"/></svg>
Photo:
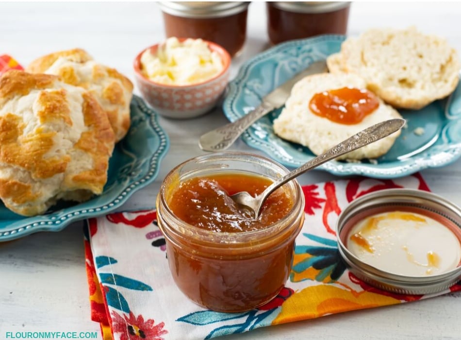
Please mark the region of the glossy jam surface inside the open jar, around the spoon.
<svg viewBox="0 0 461 340"><path fill-rule="evenodd" d="M168 206L180 220L201 229L215 232L263 229L286 216L293 206L282 188L264 202L257 220L247 208L239 206L229 196L240 191L255 196L271 183L265 177L238 173L195 177L181 183Z"/></svg>

